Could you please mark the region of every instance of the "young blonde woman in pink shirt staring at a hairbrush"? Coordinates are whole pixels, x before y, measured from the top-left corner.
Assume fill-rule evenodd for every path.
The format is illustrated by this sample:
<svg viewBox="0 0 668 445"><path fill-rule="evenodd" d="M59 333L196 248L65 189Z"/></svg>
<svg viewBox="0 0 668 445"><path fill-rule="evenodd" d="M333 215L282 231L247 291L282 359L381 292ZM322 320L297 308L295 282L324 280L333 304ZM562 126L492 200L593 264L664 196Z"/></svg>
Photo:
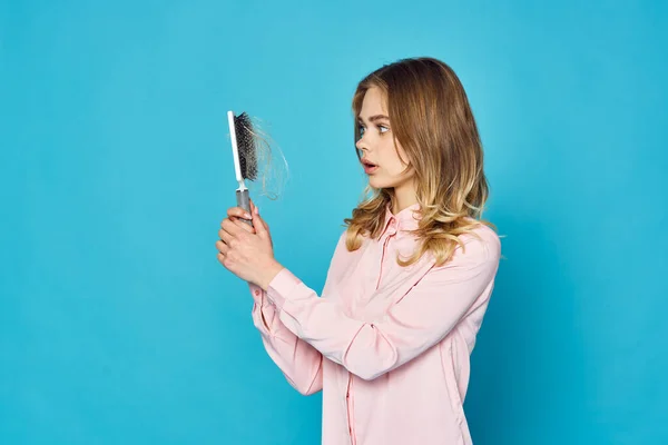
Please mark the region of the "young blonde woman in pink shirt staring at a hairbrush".
<svg viewBox="0 0 668 445"><path fill-rule="evenodd" d="M501 245L480 220L488 185L466 95L445 63L404 59L363 79L353 110L371 196L344 220L322 297L275 260L254 206L228 210L218 260L249 283L292 386L323 390L323 444L471 444L469 357Z"/></svg>

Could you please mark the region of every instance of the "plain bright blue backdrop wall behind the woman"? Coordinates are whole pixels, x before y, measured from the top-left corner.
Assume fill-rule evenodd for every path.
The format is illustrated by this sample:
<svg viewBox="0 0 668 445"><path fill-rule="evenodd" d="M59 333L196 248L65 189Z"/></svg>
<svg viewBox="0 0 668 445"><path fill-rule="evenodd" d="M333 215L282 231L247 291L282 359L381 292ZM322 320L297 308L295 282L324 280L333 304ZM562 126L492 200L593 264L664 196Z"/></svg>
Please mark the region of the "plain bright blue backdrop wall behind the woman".
<svg viewBox="0 0 668 445"><path fill-rule="evenodd" d="M214 243L225 112L289 162L258 199L322 289L364 176L356 82L432 56L469 93L503 260L478 445L668 443L666 2L0 1L0 443L314 444Z"/></svg>

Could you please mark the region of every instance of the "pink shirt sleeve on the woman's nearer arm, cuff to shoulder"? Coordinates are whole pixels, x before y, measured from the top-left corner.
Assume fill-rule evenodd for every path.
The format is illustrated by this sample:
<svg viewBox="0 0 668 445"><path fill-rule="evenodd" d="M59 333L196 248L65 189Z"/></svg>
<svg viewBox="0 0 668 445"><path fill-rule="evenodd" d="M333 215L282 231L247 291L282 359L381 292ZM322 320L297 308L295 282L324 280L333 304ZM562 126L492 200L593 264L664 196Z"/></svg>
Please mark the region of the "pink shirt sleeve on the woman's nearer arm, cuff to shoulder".
<svg viewBox="0 0 668 445"><path fill-rule="evenodd" d="M495 234L493 240L472 238L465 250L458 247L451 261L432 267L372 323L351 318L336 301L318 298L285 268L266 296L289 332L350 373L371 380L439 343L485 290L491 291L500 250Z"/></svg>

